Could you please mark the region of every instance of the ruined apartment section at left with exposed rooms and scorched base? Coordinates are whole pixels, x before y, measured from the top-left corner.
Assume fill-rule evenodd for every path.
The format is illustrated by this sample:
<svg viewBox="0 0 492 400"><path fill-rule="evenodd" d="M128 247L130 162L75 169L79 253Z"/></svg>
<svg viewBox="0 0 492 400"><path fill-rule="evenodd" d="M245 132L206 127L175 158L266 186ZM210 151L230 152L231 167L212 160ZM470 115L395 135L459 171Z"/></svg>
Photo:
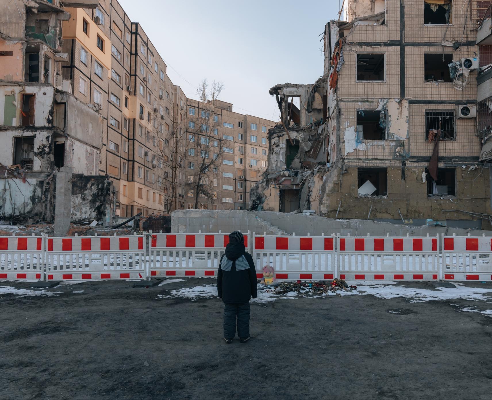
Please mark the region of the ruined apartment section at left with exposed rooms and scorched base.
<svg viewBox="0 0 492 400"><path fill-rule="evenodd" d="M70 18L64 6L96 4L1 3L1 219L52 221L56 214L74 221L111 219L114 190L99 175L102 118L70 94L72 84L62 79L61 68L68 57L62 52L62 21ZM56 193L67 191L71 204L62 209Z"/></svg>

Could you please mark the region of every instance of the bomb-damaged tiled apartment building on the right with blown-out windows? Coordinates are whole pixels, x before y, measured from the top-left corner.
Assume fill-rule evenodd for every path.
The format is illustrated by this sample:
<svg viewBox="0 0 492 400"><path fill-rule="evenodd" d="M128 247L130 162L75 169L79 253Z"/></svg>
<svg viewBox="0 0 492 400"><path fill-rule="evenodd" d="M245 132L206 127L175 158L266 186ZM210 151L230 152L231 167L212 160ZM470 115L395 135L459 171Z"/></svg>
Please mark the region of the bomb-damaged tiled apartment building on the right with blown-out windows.
<svg viewBox="0 0 492 400"><path fill-rule="evenodd" d="M490 9L346 0L323 76L270 90L281 123L251 209L491 229Z"/></svg>

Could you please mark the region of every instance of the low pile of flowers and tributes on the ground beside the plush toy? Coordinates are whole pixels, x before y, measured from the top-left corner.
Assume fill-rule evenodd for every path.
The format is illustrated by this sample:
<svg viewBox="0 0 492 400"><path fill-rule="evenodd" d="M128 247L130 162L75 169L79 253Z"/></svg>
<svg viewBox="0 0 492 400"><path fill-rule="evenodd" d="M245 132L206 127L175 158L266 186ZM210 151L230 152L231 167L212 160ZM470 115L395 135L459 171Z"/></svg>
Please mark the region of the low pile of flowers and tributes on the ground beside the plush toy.
<svg viewBox="0 0 492 400"><path fill-rule="evenodd" d="M309 281L309 282L301 282L298 280L297 282L281 282L275 288L265 287L267 292L271 292L274 294L287 294L289 292L297 292L303 295L315 295L322 296L326 295L329 292L335 293L337 296L341 296L340 291L343 292L351 292L353 290L357 290L357 286L348 285L347 282L343 279L333 279L331 281L322 280L322 281Z"/></svg>

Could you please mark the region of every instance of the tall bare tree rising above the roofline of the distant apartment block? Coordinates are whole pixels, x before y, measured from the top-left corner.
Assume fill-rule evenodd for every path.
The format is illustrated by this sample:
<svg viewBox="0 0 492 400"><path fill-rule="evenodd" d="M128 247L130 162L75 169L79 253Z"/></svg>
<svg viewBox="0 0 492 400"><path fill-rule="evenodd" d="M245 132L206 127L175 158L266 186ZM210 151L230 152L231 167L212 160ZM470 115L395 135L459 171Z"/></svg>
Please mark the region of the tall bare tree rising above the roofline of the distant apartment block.
<svg viewBox="0 0 492 400"><path fill-rule="evenodd" d="M188 185L193 187L195 196L194 208L198 208L198 199L207 198L212 204L215 202L213 187L214 175L217 173L218 163L223 153L222 139L215 134L218 132L218 119L215 119L215 106L224 85L220 81L213 81L209 85L204 78L197 89L200 99L200 113L197 115L195 129L188 128L189 137L186 139L187 148L191 146L196 152L196 165L193 168L193 182Z"/></svg>

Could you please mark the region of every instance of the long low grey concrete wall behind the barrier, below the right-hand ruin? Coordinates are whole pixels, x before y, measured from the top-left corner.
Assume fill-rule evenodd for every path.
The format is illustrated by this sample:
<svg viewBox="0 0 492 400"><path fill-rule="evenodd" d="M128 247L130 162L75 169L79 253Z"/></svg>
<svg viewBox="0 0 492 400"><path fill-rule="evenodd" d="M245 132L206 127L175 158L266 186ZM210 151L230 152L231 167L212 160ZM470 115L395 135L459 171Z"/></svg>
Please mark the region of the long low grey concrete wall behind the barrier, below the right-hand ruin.
<svg viewBox="0 0 492 400"><path fill-rule="evenodd" d="M325 235L340 234L340 236L434 236L445 233L447 235L482 235L492 236L492 231L478 229L446 228L437 226L405 226L390 222L376 222L364 219L336 220L317 215L284 214L276 212L260 211L213 211L213 210L177 210L172 213L171 231L195 233L201 230L203 233L231 232L256 232L263 234L269 225L274 225L287 234L296 235ZM267 234L278 234L278 230L266 230Z"/></svg>

